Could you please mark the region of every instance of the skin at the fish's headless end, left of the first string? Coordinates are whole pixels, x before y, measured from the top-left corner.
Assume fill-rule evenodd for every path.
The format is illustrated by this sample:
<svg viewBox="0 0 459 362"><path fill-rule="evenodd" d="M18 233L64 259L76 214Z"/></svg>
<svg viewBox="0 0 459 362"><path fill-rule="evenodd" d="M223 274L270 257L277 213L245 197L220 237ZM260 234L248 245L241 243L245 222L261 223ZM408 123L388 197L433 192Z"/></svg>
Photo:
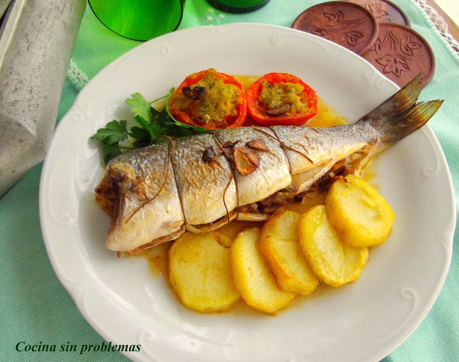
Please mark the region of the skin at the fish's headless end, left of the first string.
<svg viewBox="0 0 459 362"><path fill-rule="evenodd" d="M106 175L123 176L118 183L119 212L107 233L108 249L131 251L180 229L185 219L167 144L126 152L110 161L106 170Z"/></svg>

